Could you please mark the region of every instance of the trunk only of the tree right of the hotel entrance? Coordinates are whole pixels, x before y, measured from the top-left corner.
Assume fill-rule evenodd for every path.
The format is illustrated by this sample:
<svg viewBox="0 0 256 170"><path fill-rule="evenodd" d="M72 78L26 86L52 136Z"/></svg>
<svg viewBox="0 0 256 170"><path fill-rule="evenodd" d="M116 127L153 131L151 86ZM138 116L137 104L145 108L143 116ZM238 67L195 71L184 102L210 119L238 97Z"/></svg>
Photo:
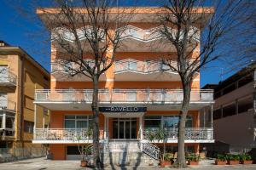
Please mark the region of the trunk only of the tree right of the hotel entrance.
<svg viewBox="0 0 256 170"><path fill-rule="evenodd" d="M185 125L189 111L190 83L183 83L183 105L179 115L178 139L177 139L177 166L187 167L185 158Z"/></svg>

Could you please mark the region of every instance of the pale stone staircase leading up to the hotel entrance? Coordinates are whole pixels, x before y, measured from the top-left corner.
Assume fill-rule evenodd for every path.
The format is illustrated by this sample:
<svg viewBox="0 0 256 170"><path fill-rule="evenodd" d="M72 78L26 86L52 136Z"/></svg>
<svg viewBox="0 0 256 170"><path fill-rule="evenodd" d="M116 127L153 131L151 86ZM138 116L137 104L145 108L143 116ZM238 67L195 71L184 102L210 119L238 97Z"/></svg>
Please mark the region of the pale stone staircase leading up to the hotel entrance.
<svg viewBox="0 0 256 170"><path fill-rule="evenodd" d="M138 140L110 140L102 151L105 167L111 166L157 166L159 161L140 150Z"/></svg>

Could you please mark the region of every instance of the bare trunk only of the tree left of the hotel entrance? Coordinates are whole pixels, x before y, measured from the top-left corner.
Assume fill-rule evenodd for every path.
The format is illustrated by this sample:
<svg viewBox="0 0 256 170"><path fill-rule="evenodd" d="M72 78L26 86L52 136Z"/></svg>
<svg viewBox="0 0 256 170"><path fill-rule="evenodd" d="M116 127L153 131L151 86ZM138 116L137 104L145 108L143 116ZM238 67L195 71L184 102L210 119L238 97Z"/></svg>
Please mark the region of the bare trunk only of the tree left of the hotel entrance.
<svg viewBox="0 0 256 170"><path fill-rule="evenodd" d="M96 169L102 168L99 150L99 107L98 107L98 93L99 93L98 77L93 77L93 98L91 110L93 113L92 129L93 129L93 164Z"/></svg>

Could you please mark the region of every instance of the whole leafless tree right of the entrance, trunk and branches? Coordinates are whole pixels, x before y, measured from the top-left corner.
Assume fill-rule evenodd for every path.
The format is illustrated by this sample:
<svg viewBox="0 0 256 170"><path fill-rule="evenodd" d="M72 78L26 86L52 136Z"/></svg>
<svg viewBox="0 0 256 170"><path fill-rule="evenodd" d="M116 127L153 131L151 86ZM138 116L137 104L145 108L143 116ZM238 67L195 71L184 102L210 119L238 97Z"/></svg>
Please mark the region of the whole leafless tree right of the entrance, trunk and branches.
<svg viewBox="0 0 256 170"><path fill-rule="evenodd" d="M178 73L183 86L183 103L178 124L177 167L186 167L185 122L193 79L203 66L222 57L218 48L225 45L224 40L228 33L247 20L242 18L247 8L245 2L214 1L214 8L202 8L206 3L201 0L168 0L157 16L160 21L160 35L169 45L170 52L173 49L175 51L175 57L172 54L162 59L163 64ZM235 20L237 17L240 20ZM174 60L177 65L172 64Z"/></svg>

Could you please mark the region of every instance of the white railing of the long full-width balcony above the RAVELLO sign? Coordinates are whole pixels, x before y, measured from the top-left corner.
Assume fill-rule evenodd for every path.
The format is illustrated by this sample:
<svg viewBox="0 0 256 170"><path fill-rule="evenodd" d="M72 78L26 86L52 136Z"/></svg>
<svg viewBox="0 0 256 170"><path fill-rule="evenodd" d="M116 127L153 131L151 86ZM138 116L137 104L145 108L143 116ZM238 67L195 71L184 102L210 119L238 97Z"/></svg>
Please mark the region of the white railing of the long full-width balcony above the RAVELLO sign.
<svg viewBox="0 0 256 170"><path fill-rule="evenodd" d="M93 91L91 89L37 89L36 102L84 102L91 103ZM192 90L191 102L212 102L212 90ZM101 103L175 103L183 101L182 89L100 89Z"/></svg>

